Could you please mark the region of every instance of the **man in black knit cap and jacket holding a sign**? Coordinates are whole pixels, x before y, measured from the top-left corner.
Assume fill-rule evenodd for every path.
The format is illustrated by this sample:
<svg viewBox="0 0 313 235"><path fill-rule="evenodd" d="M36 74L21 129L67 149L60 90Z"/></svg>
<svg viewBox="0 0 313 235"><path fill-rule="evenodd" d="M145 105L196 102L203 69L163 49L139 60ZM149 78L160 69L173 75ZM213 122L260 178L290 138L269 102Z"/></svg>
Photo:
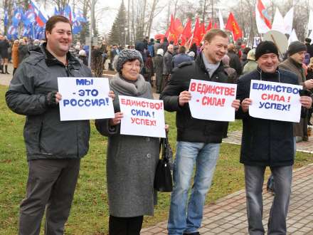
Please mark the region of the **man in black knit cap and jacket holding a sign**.
<svg viewBox="0 0 313 235"><path fill-rule="evenodd" d="M243 119L243 137L240 162L245 167L245 191L249 234L264 234L262 225L262 185L264 172L270 167L275 179L275 196L268 220L268 234L286 234L286 217L290 201L292 164L294 164L295 139L292 122L251 117L248 113L253 102L250 97L251 80L298 84L297 76L278 68L278 50L274 43L263 41L255 51L258 69L238 80L237 98L241 106L237 117ZM312 99L302 96L305 108Z"/></svg>

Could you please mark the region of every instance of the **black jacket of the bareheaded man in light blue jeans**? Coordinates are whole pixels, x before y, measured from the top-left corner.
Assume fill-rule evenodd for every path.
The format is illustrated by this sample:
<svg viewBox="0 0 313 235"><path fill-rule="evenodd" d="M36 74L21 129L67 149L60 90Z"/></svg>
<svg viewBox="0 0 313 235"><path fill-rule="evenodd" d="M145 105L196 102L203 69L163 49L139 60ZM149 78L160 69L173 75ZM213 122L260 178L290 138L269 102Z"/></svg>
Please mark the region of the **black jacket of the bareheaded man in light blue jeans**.
<svg viewBox="0 0 313 235"><path fill-rule="evenodd" d="M223 64L209 78L200 53L196 61L181 63L173 70L168 85L160 95L167 111L176 111L177 141L220 143L226 136L228 122L200 120L191 117L189 105L179 106L179 93L189 90L191 79L230 83Z"/></svg>

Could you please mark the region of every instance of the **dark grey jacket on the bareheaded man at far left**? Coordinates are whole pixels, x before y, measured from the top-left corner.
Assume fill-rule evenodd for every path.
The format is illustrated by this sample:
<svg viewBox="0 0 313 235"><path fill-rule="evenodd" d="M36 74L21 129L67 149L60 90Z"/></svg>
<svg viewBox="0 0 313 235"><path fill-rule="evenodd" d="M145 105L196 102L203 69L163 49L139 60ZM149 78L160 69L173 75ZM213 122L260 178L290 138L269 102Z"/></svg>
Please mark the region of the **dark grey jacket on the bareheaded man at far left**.
<svg viewBox="0 0 313 235"><path fill-rule="evenodd" d="M46 46L46 45L44 45ZM6 103L9 108L26 115L24 140L27 159L76 159L87 154L89 120L60 121L59 107L46 105L46 95L58 90L58 77L90 77L90 69L68 53L65 67L43 46L31 51L18 66Z"/></svg>

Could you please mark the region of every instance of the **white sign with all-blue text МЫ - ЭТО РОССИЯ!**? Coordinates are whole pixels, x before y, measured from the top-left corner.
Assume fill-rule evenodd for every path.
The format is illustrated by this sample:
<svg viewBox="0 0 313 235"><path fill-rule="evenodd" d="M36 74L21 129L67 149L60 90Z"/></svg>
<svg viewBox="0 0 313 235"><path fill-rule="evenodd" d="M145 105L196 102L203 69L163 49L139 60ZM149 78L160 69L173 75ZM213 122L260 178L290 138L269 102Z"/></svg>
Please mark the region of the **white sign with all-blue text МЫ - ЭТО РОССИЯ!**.
<svg viewBox="0 0 313 235"><path fill-rule="evenodd" d="M60 120L115 117L107 78L58 78Z"/></svg>

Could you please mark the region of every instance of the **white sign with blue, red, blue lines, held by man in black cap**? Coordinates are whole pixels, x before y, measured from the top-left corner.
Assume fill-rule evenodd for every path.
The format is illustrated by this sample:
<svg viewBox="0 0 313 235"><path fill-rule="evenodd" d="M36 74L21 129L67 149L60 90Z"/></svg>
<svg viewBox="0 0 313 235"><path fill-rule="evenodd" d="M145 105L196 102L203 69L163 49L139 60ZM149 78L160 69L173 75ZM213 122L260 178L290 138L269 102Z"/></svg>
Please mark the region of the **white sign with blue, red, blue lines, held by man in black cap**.
<svg viewBox="0 0 313 235"><path fill-rule="evenodd" d="M299 122L301 85L251 80L249 114L270 120Z"/></svg>

